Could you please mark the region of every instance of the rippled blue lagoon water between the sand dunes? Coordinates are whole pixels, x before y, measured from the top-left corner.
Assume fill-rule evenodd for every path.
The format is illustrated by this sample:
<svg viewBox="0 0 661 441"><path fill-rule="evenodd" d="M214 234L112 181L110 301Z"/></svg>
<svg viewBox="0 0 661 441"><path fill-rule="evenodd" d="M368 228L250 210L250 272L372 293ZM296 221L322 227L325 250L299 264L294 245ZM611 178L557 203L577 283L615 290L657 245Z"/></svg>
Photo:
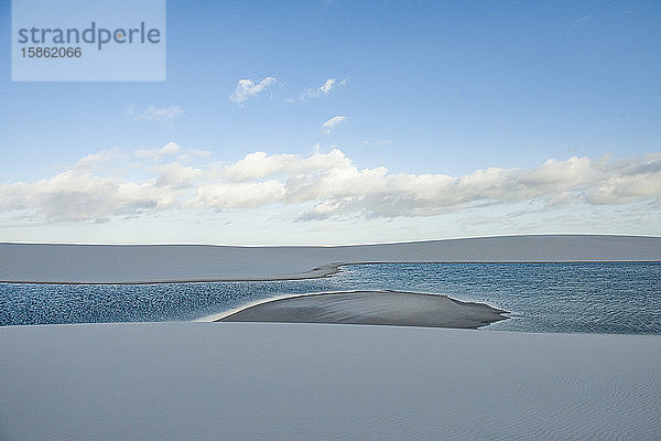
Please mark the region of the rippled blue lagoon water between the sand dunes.
<svg viewBox="0 0 661 441"><path fill-rule="evenodd" d="M0 283L0 325L187 321L282 294L392 289L510 311L487 330L661 334L661 263L372 263L324 279L163 284Z"/></svg>

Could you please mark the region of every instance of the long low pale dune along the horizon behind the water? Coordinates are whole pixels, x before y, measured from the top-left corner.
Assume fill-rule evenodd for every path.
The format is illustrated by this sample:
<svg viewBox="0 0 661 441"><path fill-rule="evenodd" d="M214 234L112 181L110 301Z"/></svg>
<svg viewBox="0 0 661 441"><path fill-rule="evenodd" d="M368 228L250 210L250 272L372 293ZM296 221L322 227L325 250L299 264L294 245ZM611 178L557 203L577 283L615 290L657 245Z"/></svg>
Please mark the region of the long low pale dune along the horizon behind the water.
<svg viewBox="0 0 661 441"><path fill-rule="evenodd" d="M0 281L150 283L321 277L337 263L661 261L661 237L499 236L338 247L0 244Z"/></svg>

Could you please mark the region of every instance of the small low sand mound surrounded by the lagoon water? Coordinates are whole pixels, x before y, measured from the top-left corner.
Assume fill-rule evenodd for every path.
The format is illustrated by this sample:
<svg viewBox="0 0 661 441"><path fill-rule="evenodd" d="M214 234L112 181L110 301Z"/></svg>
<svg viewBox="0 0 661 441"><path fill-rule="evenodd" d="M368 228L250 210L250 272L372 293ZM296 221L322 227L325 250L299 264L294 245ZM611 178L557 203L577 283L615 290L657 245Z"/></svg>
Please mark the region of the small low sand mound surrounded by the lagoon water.
<svg viewBox="0 0 661 441"><path fill-rule="evenodd" d="M507 313L444 294L358 290L268 299L216 314L212 321L479 329L508 320Z"/></svg>

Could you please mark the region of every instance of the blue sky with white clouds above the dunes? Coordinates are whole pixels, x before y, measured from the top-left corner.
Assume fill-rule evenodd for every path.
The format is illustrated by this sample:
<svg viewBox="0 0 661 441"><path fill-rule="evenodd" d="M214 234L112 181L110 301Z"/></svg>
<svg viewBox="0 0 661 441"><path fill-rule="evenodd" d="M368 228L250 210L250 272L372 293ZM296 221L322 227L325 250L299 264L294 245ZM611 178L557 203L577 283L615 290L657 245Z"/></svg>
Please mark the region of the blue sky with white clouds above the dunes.
<svg viewBox="0 0 661 441"><path fill-rule="evenodd" d="M0 241L661 236L658 1L166 11L164 82L12 82L0 0Z"/></svg>

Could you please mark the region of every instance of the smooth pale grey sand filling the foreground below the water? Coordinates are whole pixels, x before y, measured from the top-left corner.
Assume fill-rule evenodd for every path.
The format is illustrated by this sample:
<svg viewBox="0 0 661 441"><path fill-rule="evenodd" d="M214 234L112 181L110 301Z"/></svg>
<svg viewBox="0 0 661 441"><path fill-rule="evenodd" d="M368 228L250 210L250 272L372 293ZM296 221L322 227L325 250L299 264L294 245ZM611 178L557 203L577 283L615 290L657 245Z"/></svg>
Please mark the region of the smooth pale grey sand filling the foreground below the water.
<svg viewBox="0 0 661 441"><path fill-rule="evenodd" d="M661 337L156 323L0 329L0 439L658 440Z"/></svg>

